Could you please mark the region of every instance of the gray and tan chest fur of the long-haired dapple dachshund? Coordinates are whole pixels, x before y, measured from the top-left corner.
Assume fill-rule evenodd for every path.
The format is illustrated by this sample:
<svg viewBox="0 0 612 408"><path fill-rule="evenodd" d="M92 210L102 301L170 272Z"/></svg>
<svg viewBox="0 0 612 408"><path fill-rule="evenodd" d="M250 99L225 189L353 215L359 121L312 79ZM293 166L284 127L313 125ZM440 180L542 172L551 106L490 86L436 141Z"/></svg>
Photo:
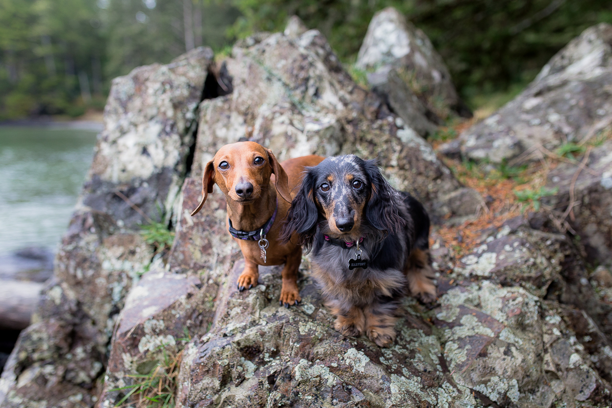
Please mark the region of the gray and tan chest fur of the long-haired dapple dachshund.
<svg viewBox="0 0 612 408"><path fill-rule="evenodd" d="M395 297L403 292L408 254L395 248L406 248L403 237L387 237L374 257L372 247L367 239L361 247L361 258L368 261L368 268L349 270L349 260L356 259L356 249L331 245L318 234L313 248L313 273L326 297L367 305L381 296Z"/></svg>

